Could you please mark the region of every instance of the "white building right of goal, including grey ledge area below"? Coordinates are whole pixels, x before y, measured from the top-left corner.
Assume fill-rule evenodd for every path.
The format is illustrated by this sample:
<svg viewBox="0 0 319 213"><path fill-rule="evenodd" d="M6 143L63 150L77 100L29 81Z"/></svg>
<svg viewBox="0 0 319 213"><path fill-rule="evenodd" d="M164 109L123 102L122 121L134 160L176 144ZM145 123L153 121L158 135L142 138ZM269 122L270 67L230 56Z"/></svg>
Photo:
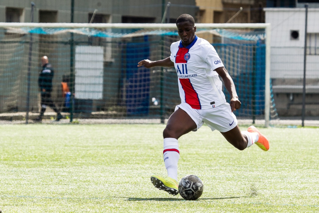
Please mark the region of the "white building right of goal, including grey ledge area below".
<svg viewBox="0 0 319 213"><path fill-rule="evenodd" d="M319 8L308 9L307 34L305 8L264 10L271 23L271 79L278 114L301 115L305 71L306 115L319 116Z"/></svg>

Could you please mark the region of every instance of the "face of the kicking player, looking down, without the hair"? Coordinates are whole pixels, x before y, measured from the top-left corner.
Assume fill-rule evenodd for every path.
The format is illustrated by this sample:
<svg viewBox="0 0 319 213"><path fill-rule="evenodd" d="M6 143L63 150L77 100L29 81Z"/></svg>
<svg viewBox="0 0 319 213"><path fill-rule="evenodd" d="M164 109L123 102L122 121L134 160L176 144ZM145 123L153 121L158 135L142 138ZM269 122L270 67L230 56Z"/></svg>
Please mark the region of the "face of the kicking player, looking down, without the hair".
<svg viewBox="0 0 319 213"><path fill-rule="evenodd" d="M194 41L196 27L190 24L189 21L177 23L177 31L184 47Z"/></svg>

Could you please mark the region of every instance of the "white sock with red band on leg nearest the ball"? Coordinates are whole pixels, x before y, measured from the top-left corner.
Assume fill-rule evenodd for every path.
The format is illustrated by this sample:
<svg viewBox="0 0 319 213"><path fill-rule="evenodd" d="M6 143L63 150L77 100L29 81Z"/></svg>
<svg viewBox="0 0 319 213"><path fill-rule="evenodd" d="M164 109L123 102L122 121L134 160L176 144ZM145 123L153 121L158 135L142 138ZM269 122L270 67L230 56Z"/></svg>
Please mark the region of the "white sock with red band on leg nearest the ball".
<svg viewBox="0 0 319 213"><path fill-rule="evenodd" d="M163 158L168 177L177 180L177 163L179 160L179 149L177 139L164 138Z"/></svg>

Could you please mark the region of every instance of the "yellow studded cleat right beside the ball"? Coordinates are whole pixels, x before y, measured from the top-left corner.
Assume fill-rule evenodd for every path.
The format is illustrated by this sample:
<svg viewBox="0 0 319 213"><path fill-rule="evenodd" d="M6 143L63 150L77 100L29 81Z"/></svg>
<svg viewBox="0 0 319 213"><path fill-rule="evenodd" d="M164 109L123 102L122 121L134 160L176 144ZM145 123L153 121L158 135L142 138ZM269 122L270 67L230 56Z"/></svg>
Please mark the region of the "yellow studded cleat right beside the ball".
<svg viewBox="0 0 319 213"><path fill-rule="evenodd" d="M175 179L167 177L161 178L159 176L151 176L152 184L159 190L164 190L174 196L178 194L178 183Z"/></svg>

